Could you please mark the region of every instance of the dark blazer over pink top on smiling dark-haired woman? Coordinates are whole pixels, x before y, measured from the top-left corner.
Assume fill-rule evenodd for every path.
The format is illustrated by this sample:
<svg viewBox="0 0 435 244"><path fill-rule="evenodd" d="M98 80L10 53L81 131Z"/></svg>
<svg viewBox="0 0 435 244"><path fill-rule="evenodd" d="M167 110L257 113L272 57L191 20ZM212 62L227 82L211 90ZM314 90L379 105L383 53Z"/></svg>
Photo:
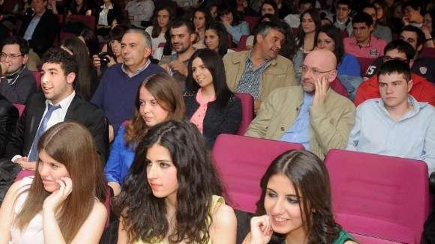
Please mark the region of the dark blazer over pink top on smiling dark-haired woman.
<svg viewBox="0 0 435 244"><path fill-rule="evenodd" d="M185 117L189 119L198 110L196 92L185 91L183 94L186 105ZM242 122L242 104L240 99L232 96L224 109L219 109L216 101L207 105L203 122L203 135L210 147L213 147L219 134L236 134Z"/></svg>

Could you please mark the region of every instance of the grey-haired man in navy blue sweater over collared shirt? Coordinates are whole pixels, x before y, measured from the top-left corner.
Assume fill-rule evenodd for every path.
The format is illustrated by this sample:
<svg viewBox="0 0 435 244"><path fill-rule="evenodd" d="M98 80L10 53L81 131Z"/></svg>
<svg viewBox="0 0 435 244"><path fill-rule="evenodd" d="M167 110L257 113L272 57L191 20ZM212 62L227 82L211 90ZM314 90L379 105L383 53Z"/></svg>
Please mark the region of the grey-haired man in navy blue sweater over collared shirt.
<svg viewBox="0 0 435 244"><path fill-rule="evenodd" d="M151 74L165 72L151 64L151 37L142 30L130 29L121 40L123 64L111 66L98 85L91 102L100 106L109 120L109 140L134 112L134 99L139 85Z"/></svg>

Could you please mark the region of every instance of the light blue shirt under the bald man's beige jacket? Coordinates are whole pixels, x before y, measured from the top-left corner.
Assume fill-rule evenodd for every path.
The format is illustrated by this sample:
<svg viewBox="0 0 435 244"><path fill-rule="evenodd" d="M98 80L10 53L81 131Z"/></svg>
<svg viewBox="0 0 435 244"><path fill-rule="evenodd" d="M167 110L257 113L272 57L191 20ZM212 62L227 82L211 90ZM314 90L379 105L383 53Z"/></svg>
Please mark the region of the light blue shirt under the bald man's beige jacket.
<svg viewBox="0 0 435 244"><path fill-rule="evenodd" d="M293 125L284 133L280 140L301 143L305 150L309 150L309 112L308 109L312 104L312 94L304 92L304 102L299 109Z"/></svg>

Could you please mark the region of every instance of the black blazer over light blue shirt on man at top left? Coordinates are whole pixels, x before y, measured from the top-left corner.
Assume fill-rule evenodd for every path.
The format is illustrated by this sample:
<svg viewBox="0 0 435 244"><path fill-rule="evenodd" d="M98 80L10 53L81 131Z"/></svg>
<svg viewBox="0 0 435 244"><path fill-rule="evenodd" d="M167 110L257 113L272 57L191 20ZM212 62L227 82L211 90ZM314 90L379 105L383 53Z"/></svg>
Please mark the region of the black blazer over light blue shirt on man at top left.
<svg viewBox="0 0 435 244"><path fill-rule="evenodd" d="M24 36L32 19L33 16L24 17L23 24L18 32L19 36ZM51 10L45 10L33 32L32 39L29 40L30 47L33 51L42 57L44 52L53 45L58 29L57 16L54 15Z"/></svg>

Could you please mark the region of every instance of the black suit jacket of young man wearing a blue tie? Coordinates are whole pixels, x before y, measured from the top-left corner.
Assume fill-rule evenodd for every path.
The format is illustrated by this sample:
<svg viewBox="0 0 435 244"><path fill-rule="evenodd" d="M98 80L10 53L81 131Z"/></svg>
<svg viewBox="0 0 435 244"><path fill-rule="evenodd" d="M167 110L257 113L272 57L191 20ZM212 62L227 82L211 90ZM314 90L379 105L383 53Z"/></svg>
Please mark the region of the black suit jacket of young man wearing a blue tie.
<svg viewBox="0 0 435 244"><path fill-rule="evenodd" d="M6 146L5 157L12 158L15 155L27 155L32 147L38 126L45 110L45 97L43 93L33 94L18 119L11 139ZM91 132L95 140L101 159L106 162L108 153L108 130L103 115L103 110L93 105L76 94L71 105L68 107L65 120L74 120L82 123ZM74 143L74 141L71 141Z"/></svg>

